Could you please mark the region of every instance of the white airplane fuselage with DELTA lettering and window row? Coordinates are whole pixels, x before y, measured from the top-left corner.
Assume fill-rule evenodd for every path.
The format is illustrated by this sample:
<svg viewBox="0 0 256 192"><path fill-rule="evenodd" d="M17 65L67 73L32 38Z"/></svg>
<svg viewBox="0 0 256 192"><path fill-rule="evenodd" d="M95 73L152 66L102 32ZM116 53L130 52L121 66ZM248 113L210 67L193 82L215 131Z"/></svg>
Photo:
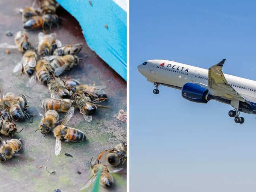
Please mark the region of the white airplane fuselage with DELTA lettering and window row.
<svg viewBox="0 0 256 192"><path fill-rule="evenodd" d="M168 60L148 60L139 65L139 72L148 81L181 89L185 83L201 83L208 86L208 69ZM162 64L162 66L161 66ZM241 95L256 103L256 81L224 74L227 82ZM218 93L216 93L218 95Z"/></svg>

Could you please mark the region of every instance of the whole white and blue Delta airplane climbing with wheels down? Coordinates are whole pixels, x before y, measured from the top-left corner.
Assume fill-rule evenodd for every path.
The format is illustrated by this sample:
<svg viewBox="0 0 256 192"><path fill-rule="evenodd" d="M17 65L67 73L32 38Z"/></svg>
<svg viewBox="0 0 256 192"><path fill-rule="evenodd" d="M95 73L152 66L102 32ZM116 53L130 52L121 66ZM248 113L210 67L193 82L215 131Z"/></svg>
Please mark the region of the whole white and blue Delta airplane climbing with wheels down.
<svg viewBox="0 0 256 192"><path fill-rule="evenodd" d="M138 66L139 72L154 83L154 94L159 85L181 90L183 98L197 103L214 99L229 104L229 116L236 123L244 123L240 112L256 114L256 81L223 74L223 59L209 69L168 60L148 60Z"/></svg>

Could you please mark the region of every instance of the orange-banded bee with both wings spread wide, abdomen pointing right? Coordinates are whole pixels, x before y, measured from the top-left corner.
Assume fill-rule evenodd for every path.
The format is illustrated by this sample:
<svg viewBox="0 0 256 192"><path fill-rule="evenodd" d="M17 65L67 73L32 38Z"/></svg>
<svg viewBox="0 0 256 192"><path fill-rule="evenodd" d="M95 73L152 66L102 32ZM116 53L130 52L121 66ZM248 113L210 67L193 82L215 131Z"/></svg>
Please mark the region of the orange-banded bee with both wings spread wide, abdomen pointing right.
<svg viewBox="0 0 256 192"><path fill-rule="evenodd" d="M65 125L74 115L74 111L75 108L71 107L62 123L53 129L53 135L56 137L54 149L56 156L59 155L61 151L61 139L64 139L65 142L82 142L84 139L86 139L86 136L82 131L72 127L67 127Z"/></svg>

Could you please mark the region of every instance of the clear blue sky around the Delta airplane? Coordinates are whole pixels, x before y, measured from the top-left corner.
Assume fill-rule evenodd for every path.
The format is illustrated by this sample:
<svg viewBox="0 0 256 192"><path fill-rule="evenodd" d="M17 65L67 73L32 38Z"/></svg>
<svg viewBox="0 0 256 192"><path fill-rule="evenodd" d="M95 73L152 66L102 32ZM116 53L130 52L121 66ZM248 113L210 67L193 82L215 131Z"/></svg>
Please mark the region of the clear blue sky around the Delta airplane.
<svg viewBox="0 0 256 192"><path fill-rule="evenodd" d="M256 80L254 1L130 0L130 191L255 192L256 120L230 105L193 103L137 66L150 59Z"/></svg>

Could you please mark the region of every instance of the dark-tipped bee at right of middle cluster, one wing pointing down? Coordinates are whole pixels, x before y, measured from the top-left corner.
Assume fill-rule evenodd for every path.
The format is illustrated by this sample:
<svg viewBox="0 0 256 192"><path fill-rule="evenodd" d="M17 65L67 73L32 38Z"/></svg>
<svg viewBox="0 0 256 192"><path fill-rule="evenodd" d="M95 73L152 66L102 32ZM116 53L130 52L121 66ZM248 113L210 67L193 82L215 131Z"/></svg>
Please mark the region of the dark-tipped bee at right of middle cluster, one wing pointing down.
<svg viewBox="0 0 256 192"><path fill-rule="evenodd" d="M71 96L71 99L75 101L76 106L79 108L80 113L83 115L86 121L91 122L93 120L92 115L96 112L97 107L109 108L108 106L97 105L97 104L88 102L88 100L91 100L90 98L95 97L95 95L91 95L91 94L86 94L86 96L84 95L85 95L84 93L83 94L75 93Z"/></svg>

